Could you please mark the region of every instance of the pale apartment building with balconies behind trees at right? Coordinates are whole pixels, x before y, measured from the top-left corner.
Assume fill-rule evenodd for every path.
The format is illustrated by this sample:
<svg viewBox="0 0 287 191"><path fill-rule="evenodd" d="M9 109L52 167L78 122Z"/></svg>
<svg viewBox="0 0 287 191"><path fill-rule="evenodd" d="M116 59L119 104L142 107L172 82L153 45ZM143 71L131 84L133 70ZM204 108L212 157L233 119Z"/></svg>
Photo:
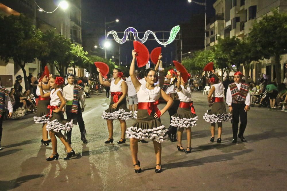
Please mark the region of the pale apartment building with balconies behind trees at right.
<svg viewBox="0 0 287 191"><path fill-rule="evenodd" d="M272 9L278 8L280 13L287 12L287 0L217 0L214 19L207 24L207 47L217 43L218 38L243 38L248 36L256 19L263 15L272 14ZM272 81L276 78L274 59L264 59L251 63L250 76L256 81L261 73L269 76ZM287 55L282 55L281 79L285 78ZM240 68L244 71L243 66Z"/></svg>

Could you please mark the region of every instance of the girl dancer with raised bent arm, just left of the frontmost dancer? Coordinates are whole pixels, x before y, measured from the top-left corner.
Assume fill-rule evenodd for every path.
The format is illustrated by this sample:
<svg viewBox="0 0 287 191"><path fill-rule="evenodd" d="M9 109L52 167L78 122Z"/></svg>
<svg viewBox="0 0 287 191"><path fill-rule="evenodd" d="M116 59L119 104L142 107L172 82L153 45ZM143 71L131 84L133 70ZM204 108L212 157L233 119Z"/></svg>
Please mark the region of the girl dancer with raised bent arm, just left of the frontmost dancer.
<svg viewBox="0 0 287 191"><path fill-rule="evenodd" d="M131 119L133 112L127 109L127 83L121 79L123 72L119 68L113 70L113 80L111 82L104 81L103 76L100 73L100 68L97 68L99 72L100 84L104 86L110 86L110 106L103 112L102 118L107 120L108 124L108 135L109 138L105 143L113 143L113 131L114 125L113 120L119 119L121 123L121 139L117 142L118 144L125 143L125 131L127 129L127 124L125 120Z"/></svg>

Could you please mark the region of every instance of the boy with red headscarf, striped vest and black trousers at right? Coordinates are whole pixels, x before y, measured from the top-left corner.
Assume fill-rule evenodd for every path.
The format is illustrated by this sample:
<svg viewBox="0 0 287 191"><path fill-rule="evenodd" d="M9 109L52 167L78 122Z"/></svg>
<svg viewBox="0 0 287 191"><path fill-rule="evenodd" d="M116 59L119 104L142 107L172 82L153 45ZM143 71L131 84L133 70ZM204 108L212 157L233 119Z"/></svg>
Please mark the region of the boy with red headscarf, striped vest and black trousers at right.
<svg viewBox="0 0 287 191"><path fill-rule="evenodd" d="M243 133L247 125L247 111L250 109L250 93L248 84L241 83L242 77L243 74L241 72L235 72L234 83L228 85L226 92L226 103L229 111L232 112L232 143L237 143L239 117L240 126L238 138L240 138L242 142L246 142Z"/></svg>

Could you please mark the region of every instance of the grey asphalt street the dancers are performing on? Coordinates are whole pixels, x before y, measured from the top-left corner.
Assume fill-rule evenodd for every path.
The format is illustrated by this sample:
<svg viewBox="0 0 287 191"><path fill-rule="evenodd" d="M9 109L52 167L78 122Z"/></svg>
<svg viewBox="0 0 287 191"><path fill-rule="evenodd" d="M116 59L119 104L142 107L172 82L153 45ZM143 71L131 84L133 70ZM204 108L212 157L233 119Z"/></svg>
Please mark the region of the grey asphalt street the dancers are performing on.
<svg viewBox="0 0 287 191"><path fill-rule="evenodd" d="M104 93L86 100L83 113L88 144L73 127L72 147L77 157L65 161L65 147L58 139L59 160L47 162L51 145L41 146L41 127L33 114L22 120L3 122L0 151L0 190L286 190L287 112L251 107L245 131L247 143L231 143L232 124L223 123L222 143L211 143L210 124L202 116L208 110L207 96L193 92L199 116L192 128L192 152L177 151L177 143L162 143L162 173L155 173L152 141L139 143L143 172L135 174L129 140L118 145L119 121L114 121L114 143L108 138L102 111L109 100ZM160 104L160 108L164 104ZM165 113L162 123L169 126ZM127 121L129 127L135 119ZM217 138L217 134L216 137ZM183 147L186 148L186 134Z"/></svg>

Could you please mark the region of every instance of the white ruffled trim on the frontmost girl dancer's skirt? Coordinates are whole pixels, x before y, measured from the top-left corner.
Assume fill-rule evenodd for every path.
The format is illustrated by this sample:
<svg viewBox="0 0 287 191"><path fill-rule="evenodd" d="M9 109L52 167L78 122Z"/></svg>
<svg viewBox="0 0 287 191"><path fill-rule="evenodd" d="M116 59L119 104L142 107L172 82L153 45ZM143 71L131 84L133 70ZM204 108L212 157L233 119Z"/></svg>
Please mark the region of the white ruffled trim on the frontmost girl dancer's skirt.
<svg viewBox="0 0 287 191"><path fill-rule="evenodd" d="M139 140L154 139L158 143L161 143L168 137L166 134L168 130L164 128L164 125L160 127L154 127L153 129L141 129L137 127L129 127L126 131L127 138L135 138Z"/></svg>

